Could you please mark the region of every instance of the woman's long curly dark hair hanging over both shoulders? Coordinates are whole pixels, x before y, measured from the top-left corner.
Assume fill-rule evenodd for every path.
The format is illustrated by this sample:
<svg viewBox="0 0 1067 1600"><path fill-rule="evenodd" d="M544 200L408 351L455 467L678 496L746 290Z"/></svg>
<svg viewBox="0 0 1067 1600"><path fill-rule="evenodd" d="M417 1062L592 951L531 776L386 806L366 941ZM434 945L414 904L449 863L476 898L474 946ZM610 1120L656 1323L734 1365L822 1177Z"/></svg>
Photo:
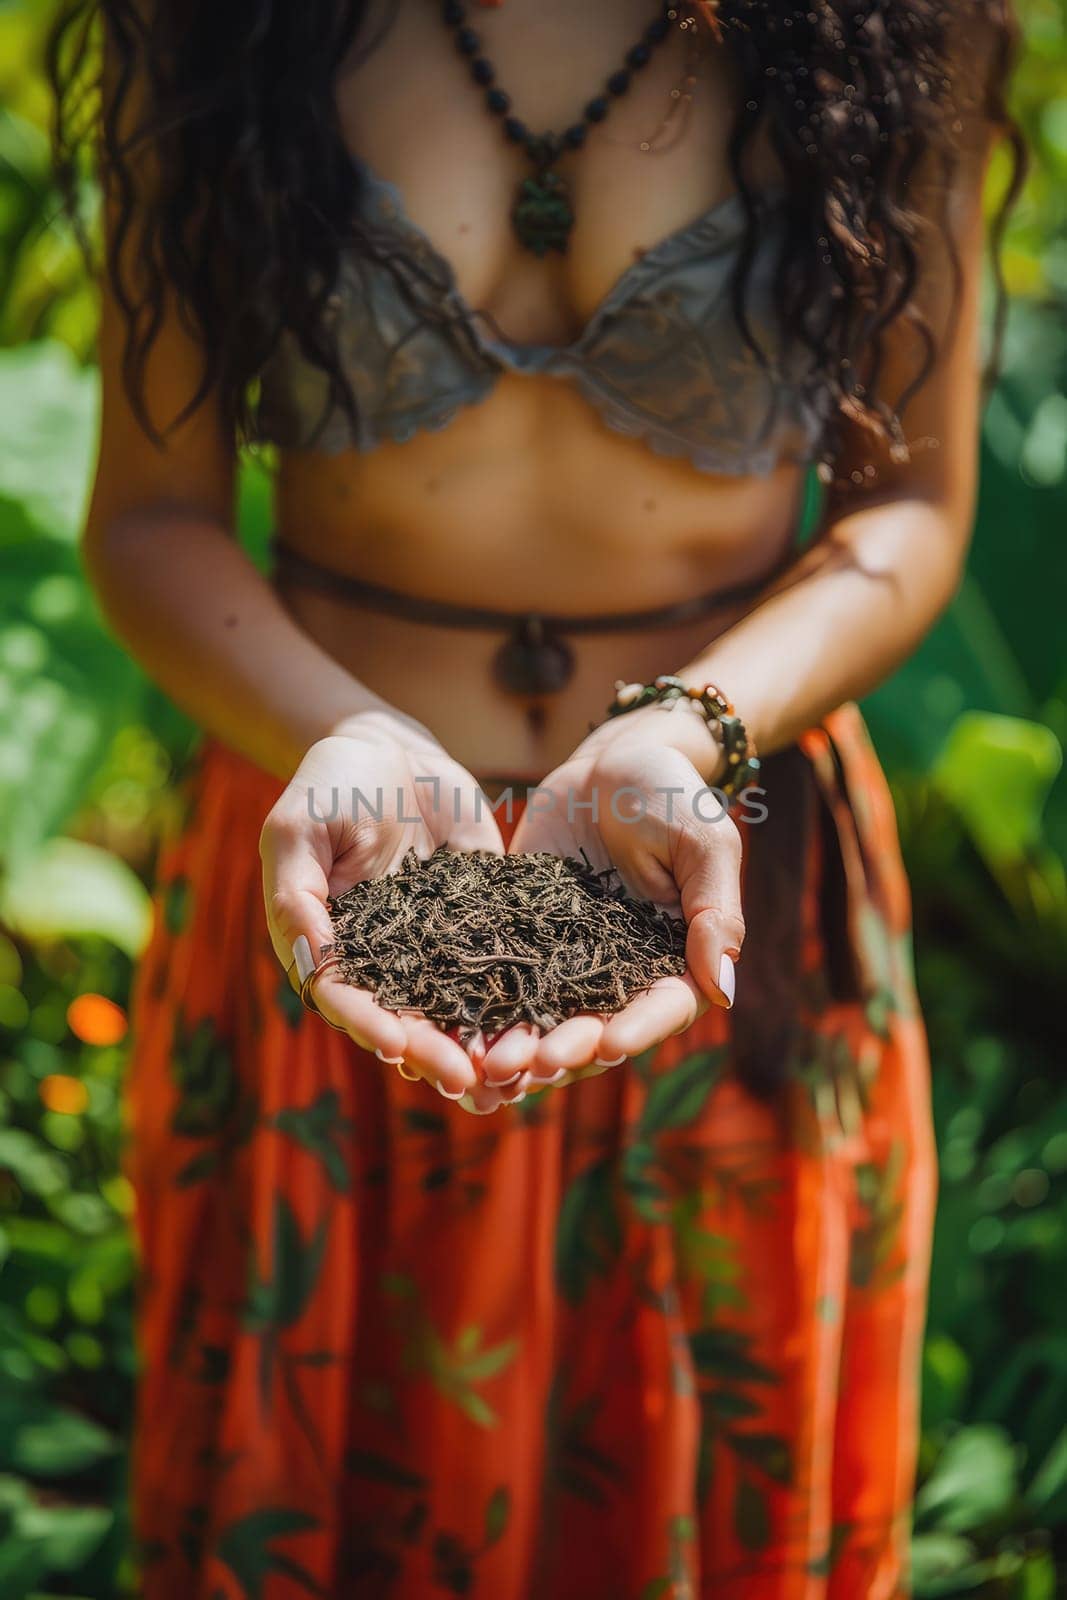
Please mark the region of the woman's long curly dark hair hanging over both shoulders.
<svg viewBox="0 0 1067 1600"><path fill-rule="evenodd" d="M346 250L381 254L358 221L362 174L334 98L339 64L374 45L362 37L368 11L366 0L61 0L50 48L56 171L77 211L83 150L98 131L117 219L106 270L125 320L123 381L150 437L160 438L144 373L168 294L203 349L200 384L168 427L214 390L237 435L253 437L250 392L283 330L328 374L330 405L355 418L325 309ZM757 246L749 157L766 130L790 197L777 302L787 341L814 355L824 474L846 422L907 456L904 408L939 347L918 294L926 242L944 242L960 272L944 222L961 115L1003 133L1013 154L992 227L990 371L1000 347L1000 235L1025 171L1005 104L1017 38L1009 3L718 0L713 13L741 83L728 146L749 202L733 278L741 330L761 357L744 307ZM920 189L934 214L915 205ZM920 354L891 398L883 336L901 317Z"/></svg>

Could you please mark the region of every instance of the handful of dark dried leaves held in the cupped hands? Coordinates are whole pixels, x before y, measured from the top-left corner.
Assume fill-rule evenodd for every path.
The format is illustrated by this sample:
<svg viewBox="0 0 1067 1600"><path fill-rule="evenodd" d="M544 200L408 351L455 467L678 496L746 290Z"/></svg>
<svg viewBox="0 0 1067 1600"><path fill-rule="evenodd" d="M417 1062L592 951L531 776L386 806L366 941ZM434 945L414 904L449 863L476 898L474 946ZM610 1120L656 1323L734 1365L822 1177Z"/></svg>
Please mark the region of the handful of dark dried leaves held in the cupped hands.
<svg viewBox="0 0 1067 1600"><path fill-rule="evenodd" d="M545 853L496 856L442 845L330 901L338 973L390 1011L440 1027L549 1029L619 1011L656 978L685 971L685 922L632 899L613 869Z"/></svg>

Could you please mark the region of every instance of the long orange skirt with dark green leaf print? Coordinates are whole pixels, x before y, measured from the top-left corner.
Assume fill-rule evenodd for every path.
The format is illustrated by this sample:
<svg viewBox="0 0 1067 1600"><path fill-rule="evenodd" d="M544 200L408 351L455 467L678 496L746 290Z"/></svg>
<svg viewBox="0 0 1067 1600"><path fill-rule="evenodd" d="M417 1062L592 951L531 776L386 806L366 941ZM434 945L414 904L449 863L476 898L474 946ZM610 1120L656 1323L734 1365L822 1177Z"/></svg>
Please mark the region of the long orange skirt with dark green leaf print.
<svg viewBox="0 0 1067 1600"><path fill-rule="evenodd" d="M907 885L856 707L787 755L811 826L736 1011L470 1117L301 1010L259 886L278 784L205 744L128 1083L146 1600L907 1594L936 1182Z"/></svg>

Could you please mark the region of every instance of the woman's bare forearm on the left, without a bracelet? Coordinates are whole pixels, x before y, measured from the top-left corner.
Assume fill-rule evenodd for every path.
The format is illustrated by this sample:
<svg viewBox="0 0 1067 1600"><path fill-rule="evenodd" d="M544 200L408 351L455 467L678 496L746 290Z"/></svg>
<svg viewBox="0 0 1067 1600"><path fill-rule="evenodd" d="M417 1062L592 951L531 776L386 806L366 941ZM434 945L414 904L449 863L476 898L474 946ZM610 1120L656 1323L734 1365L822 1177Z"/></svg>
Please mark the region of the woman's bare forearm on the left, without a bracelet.
<svg viewBox="0 0 1067 1600"><path fill-rule="evenodd" d="M85 558L112 629L149 677L278 778L347 718L381 710L400 720L298 627L211 515L125 512L90 528Z"/></svg>

